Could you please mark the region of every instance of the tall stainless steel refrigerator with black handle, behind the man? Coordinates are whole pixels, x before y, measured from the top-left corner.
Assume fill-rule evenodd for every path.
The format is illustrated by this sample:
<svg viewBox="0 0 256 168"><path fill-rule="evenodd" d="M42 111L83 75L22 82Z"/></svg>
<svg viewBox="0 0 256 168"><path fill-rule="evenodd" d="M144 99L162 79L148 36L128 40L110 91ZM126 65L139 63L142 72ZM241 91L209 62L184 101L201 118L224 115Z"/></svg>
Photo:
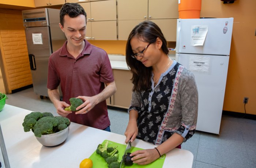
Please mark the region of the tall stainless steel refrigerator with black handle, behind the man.
<svg viewBox="0 0 256 168"><path fill-rule="evenodd" d="M46 85L49 57L66 40L59 27L59 12L59 9L50 8L22 11L33 88L41 99L48 97Z"/></svg>

